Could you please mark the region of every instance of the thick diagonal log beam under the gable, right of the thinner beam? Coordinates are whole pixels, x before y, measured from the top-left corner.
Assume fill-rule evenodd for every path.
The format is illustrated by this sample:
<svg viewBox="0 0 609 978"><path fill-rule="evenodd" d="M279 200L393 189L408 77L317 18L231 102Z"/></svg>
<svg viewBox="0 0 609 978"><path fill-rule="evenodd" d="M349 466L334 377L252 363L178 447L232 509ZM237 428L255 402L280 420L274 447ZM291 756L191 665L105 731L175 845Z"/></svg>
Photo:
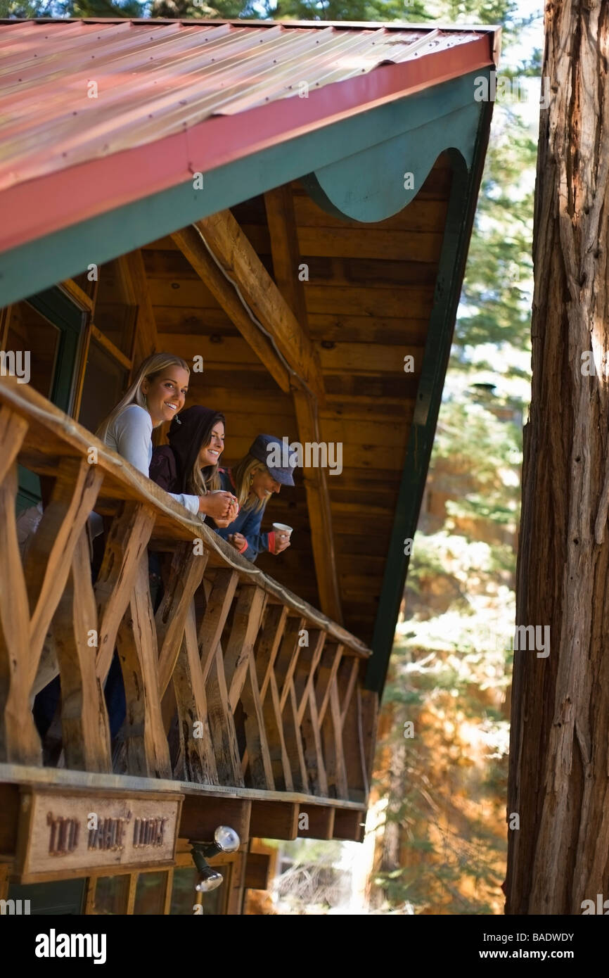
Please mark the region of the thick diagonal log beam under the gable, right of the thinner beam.
<svg viewBox="0 0 609 978"><path fill-rule="evenodd" d="M196 227L231 278L238 283L250 309L273 336L291 370L321 404L326 401L317 351L282 292L260 261L230 210L198 221Z"/></svg>

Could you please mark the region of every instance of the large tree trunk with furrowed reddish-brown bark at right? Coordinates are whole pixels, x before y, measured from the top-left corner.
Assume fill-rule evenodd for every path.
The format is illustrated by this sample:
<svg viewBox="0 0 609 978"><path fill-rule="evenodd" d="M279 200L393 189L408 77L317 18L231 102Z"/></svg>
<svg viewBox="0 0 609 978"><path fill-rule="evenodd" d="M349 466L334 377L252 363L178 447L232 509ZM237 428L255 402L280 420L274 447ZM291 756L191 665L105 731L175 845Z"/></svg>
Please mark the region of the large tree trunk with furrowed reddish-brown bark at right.
<svg viewBox="0 0 609 978"><path fill-rule="evenodd" d="M549 625L550 649L514 654L508 913L607 891L608 18L606 0L546 5L516 621Z"/></svg>

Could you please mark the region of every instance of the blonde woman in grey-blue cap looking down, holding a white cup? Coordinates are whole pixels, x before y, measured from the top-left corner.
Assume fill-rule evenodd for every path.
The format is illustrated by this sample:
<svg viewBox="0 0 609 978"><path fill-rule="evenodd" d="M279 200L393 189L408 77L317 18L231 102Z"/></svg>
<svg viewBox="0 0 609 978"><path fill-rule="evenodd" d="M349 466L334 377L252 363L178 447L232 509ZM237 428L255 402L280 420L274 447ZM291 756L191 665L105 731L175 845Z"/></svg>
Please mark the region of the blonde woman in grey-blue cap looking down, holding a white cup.
<svg viewBox="0 0 609 978"><path fill-rule="evenodd" d="M288 533L260 532L262 515L273 493L279 493L282 486L294 484L292 469L296 453L287 450L287 457L282 460L288 463L287 467L278 467L271 461L281 446L279 438L259 434L237 466L219 471L222 488L237 496L239 514L226 528L216 532L252 562L261 551L277 555L289 547Z"/></svg>

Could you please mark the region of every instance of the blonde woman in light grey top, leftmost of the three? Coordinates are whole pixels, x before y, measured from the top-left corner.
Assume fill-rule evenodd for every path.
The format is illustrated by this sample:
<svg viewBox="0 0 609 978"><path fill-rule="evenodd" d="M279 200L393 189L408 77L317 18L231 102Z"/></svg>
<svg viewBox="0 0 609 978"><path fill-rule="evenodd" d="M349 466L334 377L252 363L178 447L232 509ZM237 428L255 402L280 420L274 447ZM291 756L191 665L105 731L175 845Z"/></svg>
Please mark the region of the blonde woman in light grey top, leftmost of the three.
<svg viewBox="0 0 609 978"><path fill-rule="evenodd" d="M97 435L145 475L152 460L152 428L173 421L184 407L190 379L189 366L170 353L153 353ZM233 518L236 500L231 492L169 493L191 512L214 519Z"/></svg>

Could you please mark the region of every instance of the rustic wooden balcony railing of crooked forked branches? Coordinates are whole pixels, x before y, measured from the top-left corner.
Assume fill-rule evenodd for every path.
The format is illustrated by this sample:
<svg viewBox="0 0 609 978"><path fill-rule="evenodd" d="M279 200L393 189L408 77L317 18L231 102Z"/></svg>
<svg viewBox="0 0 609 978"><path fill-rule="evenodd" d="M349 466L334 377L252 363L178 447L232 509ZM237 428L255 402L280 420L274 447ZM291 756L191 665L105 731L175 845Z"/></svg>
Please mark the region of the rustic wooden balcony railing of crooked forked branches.
<svg viewBox="0 0 609 978"><path fill-rule="evenodd" d="M54 477L23 560L18 463ZM111 519L95 584L91 511ZM155 614L149 544L168 552ZM33 696L59 671L63 765L111 772L103 687L114 649L127 701L114 771L366 802L370 650L45 398L1 378L0 761L43 764Z"/></svg>

